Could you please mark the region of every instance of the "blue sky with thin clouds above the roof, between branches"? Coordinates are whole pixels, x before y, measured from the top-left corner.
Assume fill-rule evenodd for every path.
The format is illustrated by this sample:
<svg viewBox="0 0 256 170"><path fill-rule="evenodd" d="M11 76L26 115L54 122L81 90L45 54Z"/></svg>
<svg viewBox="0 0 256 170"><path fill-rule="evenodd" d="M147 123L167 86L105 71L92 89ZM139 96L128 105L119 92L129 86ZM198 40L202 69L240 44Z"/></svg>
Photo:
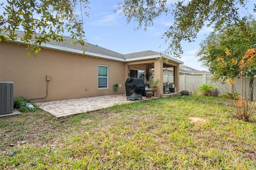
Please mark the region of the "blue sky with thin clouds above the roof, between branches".
<svg viewBox="0 0 256 170"><path fill-rule="evenodd" d="M134 30L137 23L130 22L127 24L125 16L120 16L113 12L113 10L117 9L116 4L120 1L90 1L90 9L86 9L89 17L84 17L84 29L88 42L122 54L146 50L157 52L166 50L168 44L165 44L164 39L161 37L164 31L172 24L172 16L160 16L154 20L154 25L146 31L143 28ZM256 0L250 0L248 5L251 9L254 3L256 3ZM170 4L168 5L170 6ZM195 57L195 53L200 47L200 42L211 31L211 28L204 28L198 34L195 42L182 43L184 53L180 60L184 62L184 65L198 70L207 70L198 62L198 57Z"/></svg>

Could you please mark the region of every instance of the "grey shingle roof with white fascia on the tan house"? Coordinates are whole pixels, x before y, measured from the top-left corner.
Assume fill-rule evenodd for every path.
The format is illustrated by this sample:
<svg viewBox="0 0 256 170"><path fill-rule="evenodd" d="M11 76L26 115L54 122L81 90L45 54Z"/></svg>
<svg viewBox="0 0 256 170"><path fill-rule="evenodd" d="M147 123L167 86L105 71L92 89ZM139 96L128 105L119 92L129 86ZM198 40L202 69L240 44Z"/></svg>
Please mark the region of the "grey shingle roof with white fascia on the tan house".
<svg viewBox="0 0 256 170"><path fill-rule="evenodd" d="M24 32L21 31L16 31L17 34L17 40L13 41L16 43L23 43L21 40L24 36ZM8 36L8 33L1 32L1 34L5 34ZM40 34L38 34L40 35ZM36 36L38 36L36 35ZM66 51L66 52L71 52L71 53L78 53L78 54L83 54L83 48L82 45L76 44L72 45L73 39L68 36L63 36L63 39L66 40L64 42L56 42L55 40L50 40L50 42L43 43L41 46L49 49L56 49L60 51ZM11 41L11 40L10 40ZM84 55L92 55L96 57L102 57L102 58L107 58L107 59L113 59L117 61L135 61L135 60L143 60L143 59L149 59L149 58L157 58L160 56L166 57L170 59L171 61L175 61L177 63L183 64L182 61L175 59L173 57L170 57L168 55L163 55L160 52L156 51L142 51L142 52L137 52L137 53L130 53L130 54L121 54L117 53L115 51L111 51L109 49L100 47L98 45L93 45L91 43L86 43L86 52Z"/></svg>

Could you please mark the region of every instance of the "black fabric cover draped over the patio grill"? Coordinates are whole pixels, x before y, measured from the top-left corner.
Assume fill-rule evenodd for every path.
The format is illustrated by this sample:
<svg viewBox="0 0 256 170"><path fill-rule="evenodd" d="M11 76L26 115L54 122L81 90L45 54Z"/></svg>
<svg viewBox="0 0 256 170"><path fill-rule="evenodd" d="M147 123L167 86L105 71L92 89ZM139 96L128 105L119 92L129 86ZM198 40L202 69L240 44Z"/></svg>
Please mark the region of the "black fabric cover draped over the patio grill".
<svg viewBox="0 0 256 170"><path fill-rule="evenodd" d="M126 96L132 95L132 93L137 93L142 96L146 96L145 85L140 78L128 78L125 82Z"/></svg>

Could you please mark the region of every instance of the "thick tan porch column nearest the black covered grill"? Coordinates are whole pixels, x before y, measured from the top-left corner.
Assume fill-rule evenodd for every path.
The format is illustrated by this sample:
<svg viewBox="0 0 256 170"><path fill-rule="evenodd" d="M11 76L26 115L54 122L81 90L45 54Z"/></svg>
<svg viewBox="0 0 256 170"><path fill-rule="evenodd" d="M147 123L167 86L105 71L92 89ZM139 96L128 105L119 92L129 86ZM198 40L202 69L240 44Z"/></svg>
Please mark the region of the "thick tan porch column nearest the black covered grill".
<svg viewBox="0 0 256 170"><path fill-rule="evenodd" d="M164 92L163 90L163 61L156 60L154 63L154 80L159 79L160 82L158 83L157 90L155 93L155 97L160 97L160 95Z"/></svg>

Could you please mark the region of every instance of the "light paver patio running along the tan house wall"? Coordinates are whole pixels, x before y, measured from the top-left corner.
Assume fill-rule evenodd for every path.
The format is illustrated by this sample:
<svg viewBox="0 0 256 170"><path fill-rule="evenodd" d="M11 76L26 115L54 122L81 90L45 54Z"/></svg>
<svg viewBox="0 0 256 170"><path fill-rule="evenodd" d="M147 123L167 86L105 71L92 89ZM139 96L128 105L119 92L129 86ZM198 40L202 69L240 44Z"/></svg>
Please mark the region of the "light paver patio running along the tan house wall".
<svg viewBox="0 0 256 170"><path fill-rule="evenodd" d="M152 97L154 98L154 97ZM135 101L145 101L152 98L143 97ZM87 111L95 111L98 109L111 107L115 104L123 104L133 102L127 100L126 95L107 95L98 97L86 97L81 99L68 99L61 101L48 101L36 103L41 109L54 115L55 117L66 117Z"/></svg>

